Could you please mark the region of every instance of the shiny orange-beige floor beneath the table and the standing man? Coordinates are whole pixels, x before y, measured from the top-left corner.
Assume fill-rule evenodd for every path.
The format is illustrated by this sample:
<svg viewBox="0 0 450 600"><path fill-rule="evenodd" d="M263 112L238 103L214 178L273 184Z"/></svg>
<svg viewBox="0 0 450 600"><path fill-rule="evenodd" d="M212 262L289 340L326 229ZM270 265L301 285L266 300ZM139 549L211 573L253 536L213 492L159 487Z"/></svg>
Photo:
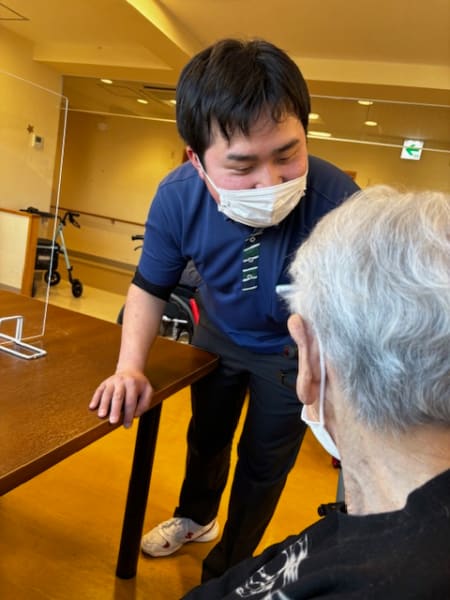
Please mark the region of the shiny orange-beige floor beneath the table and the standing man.
<svg viewBox="0 0 450 600"><path fill-rule="evenodd" d="M61 282L51 301L114 321L123 298L86 288L74 299ZM40 418L45 415L30 414ZM163 407L146 529L169 518L176 505L188 420L184 391ZM173 600L197 584L212 543L190 544L168 558L141 556L133 580L114 575L135 432L135 426L116 430L0 498L2 600ZM307 434L259 550L316 520L318 504L334 500L336 481L328 455Z"/></svg>

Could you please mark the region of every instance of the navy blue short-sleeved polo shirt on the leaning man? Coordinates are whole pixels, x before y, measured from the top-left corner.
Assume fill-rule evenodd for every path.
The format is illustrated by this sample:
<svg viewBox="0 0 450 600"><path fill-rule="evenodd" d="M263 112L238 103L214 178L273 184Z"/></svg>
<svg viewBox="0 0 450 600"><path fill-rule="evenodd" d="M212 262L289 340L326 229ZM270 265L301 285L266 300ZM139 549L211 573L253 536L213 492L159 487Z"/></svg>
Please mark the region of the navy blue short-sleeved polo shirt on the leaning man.
<svg viewBox="0 0 450 600"><path fill-rule="evenodd" d="M256 229L218 211L197 171L186 162L159 185L145 231L140 276L147 287L175 286L188 260L202 278L203 308L236 344L278 353L292 343L288 311L275 288L317 221L358 189L332 164L310 156L307 187L277 226Z"/></svg>

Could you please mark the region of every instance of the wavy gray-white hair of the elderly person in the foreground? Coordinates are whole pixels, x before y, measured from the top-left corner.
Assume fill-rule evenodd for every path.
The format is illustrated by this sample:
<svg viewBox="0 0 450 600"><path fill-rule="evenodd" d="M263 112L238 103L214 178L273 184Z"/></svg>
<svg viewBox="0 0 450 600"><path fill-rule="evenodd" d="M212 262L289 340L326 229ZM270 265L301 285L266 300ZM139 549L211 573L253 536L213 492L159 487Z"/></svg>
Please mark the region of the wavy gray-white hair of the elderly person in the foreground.
<svg viewBox="0 0 450 600"><path fill-rule="evenodd" d="M450 196L374 186L325 216L289 304L372 429L450 425Z"/></svg>

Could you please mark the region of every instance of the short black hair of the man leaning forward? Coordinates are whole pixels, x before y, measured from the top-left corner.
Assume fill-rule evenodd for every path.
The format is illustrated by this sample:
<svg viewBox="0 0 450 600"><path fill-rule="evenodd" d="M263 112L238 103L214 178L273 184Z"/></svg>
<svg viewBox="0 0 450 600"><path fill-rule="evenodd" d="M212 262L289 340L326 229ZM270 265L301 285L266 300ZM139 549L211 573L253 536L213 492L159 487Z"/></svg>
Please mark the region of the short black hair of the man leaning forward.
<svg viewBox="0 0 450 600"><path fill-rule="evenodd" d="M177 127L200 158L217 124L230 140L248 135L268 111L275 122L287 115L308 128L310 97L300 69L280 48L264 40L224 39L195 55L181 72L176 93Z"/></svg>

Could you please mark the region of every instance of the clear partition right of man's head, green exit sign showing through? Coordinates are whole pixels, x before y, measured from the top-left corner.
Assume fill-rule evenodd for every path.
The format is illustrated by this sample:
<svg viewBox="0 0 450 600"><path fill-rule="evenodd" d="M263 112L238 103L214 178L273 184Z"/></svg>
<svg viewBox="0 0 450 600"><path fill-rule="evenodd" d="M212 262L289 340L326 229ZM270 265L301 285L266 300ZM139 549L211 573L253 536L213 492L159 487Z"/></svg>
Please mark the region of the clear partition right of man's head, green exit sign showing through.
<svg viewBox="0 0 450 600"><path fill-rule="evenodd" d="M450 106L313 95L308 147L361 187L450 191Z"/></svg>

